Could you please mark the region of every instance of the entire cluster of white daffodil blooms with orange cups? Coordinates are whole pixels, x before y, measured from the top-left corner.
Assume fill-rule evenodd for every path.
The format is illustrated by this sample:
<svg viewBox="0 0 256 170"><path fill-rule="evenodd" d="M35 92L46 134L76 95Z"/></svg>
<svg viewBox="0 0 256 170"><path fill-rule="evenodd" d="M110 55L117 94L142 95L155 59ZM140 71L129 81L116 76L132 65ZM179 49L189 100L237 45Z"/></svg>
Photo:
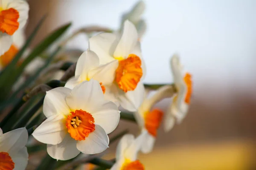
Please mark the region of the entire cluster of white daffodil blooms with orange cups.
<svg viewBox="0 0 256 170"><path fill-rule="evenodd" d="M0 63L5 66L15 56L11 53L17 52L12 39L25 25L29 8L23 0L2 0L0 4ZM116 163L111 170L144 170L137 155L153 150L161 123L167 132L186 116L192 81L189 73L183 74L177 54L171 59L174 84L162 85L153 95L149 95L151 88L143 84L146 66L140 38L145 31L141 26L145 23L140 15L144 6L140 2L123 16L121 33L105 32L90 37L89 48L76 63L74 77L64 87L46 92L43 103L46 119L32 136L47 144L47 153L52 158L69 160L79 153L105 151L110 143L108 134L118 126L120 115L122 118L119 109L123 108L134 116L140 134L122 137L116 148ZM157 102L173 95L166 112L154 108ZM25 169L27 140L25 128L4 134L0 132L0 169Z"/></svg>

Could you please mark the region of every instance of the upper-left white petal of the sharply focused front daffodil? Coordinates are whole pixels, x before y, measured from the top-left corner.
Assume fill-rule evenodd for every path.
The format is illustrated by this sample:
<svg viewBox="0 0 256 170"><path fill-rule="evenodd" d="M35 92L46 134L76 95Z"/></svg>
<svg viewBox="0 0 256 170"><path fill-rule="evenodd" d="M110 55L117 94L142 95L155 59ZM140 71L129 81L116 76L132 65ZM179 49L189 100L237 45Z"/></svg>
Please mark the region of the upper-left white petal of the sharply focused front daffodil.
<svg viewBox="0 0 256 170"><path fill-rule="evenodd" d="M70 94L69 88L58 87L46 92L44 98L43 112L46 117L55 114L67 115L70 113L70 108L66 103L66 96Z"/></svg>

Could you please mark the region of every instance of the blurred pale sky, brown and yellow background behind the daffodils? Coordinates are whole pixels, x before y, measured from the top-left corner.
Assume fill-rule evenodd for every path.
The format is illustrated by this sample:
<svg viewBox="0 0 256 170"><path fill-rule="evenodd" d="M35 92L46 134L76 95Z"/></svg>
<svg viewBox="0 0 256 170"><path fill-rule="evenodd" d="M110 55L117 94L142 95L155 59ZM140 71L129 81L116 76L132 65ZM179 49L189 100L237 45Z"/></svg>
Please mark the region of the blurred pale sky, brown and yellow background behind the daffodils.
<svg viewBox="0 0 256 170"><path fill-rule="evenodd" d="M187 117L169 133L159 130L154 151L140 155L146 170L256 169L256 1L145 0L142 38L145 83L171 83L169 59L180 54L192 74L193 96ZM121 16L137 0L29 0L30 34L47 14L38 42L72 22L70 33L90 25L118 29ZM84 35L69 46L86 50ZM157 107L164 111L170 99ZM119 125L136 134L132 122ZM110 146L109 159L115 146Z"/></svg>

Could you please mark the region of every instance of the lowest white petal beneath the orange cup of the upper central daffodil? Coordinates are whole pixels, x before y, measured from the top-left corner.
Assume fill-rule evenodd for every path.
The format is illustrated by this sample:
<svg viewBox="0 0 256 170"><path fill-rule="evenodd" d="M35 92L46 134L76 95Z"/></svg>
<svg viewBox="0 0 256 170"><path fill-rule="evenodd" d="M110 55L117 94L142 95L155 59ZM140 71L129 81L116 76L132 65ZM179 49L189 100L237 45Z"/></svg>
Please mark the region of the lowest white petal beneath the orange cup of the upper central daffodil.
<svg viewBox="0 0 256 170"><path fill-rule="evenodd" d="M145 88L142 82L139 82L134 91L128 91L119 95L120 105L127 111L137 111L144 99Z"/></svg>

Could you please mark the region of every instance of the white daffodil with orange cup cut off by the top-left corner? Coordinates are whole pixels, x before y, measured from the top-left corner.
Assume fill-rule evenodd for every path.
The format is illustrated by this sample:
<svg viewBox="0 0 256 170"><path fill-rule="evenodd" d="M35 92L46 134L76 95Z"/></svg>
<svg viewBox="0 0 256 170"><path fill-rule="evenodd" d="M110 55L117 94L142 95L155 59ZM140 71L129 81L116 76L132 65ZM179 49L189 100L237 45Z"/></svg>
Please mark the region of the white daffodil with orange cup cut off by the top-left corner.
<svg viewBox="0 0 256 170"><path fill-rule="evenodd" d="M0 55L15 51L13 34L22 29L28 19L29 5L25 0L0 0Z"/></svg>

